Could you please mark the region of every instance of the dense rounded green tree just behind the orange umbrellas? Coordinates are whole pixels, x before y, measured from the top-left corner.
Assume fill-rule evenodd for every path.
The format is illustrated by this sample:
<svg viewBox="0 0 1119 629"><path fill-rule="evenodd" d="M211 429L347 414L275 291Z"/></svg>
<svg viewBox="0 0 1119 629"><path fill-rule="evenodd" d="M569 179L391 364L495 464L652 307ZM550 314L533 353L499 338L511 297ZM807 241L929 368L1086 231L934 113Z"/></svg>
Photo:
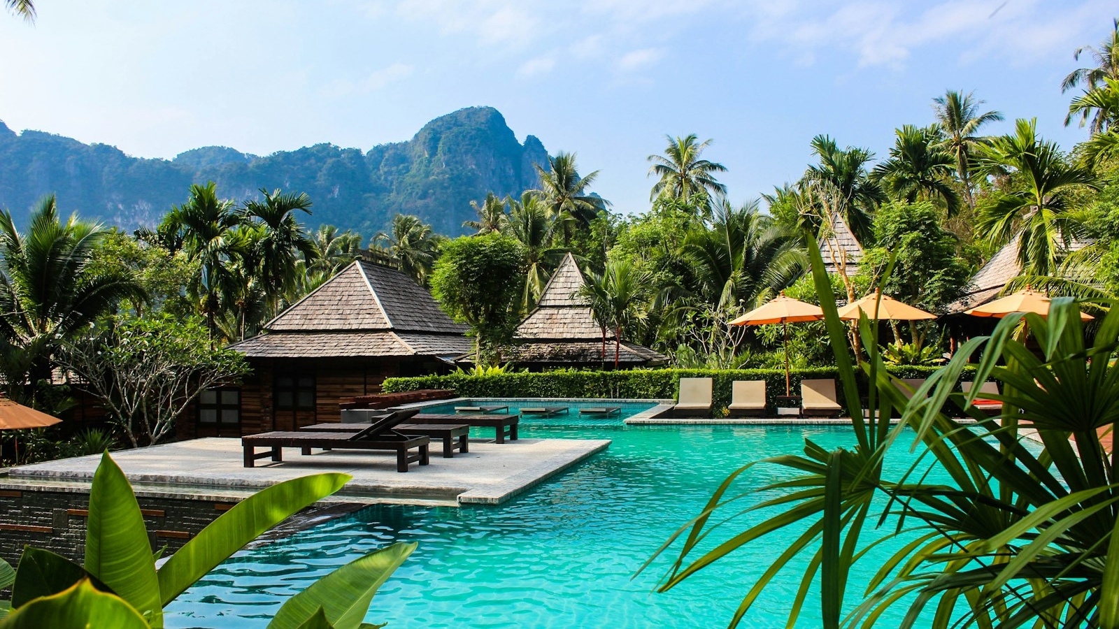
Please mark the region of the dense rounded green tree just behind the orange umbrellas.
<svg viewBox="0 0 1119 629"><path fill-rule="evenodd" d="M956 255L956 237L941 225L929 201L888 203L874 219L875 246L866 251L859 274L871 287L895 255L894 272L880 288L905 303L933 312L959 299L970 270Z"/></svg>

